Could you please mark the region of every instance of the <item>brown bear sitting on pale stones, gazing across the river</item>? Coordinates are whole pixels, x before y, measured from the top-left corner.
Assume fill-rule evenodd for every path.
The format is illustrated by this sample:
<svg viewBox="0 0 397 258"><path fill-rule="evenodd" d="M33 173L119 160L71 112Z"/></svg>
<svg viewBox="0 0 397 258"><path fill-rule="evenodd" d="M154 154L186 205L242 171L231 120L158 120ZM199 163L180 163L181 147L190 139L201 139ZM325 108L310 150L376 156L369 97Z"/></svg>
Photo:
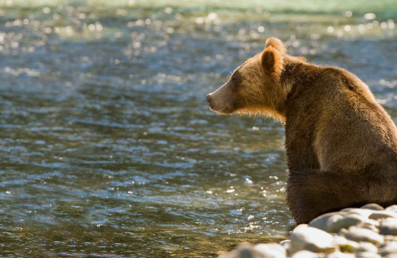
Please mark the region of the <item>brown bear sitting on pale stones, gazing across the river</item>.
<svg viewBox="0 0 397 258"><path fill-rule="evenodd" d="M206 96L219 114L285 123L287 203L297 224L345 207L397 204L397 128L368 86L290 56L277 38Z"/></svg>

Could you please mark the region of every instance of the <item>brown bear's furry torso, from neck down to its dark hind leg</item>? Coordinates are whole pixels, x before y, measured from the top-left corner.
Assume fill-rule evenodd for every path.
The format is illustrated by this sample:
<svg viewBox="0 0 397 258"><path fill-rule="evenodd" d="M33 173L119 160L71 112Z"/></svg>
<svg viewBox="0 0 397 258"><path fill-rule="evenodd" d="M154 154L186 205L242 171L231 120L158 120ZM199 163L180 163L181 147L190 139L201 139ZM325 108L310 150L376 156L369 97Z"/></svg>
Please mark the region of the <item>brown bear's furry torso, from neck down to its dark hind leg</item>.
<svg viewBox="0 0 397 258"><path fill-rule="evenodd" d="M287 105L289 169L397 171L397 128L368 86L341 68L302 66Z"/></svg>

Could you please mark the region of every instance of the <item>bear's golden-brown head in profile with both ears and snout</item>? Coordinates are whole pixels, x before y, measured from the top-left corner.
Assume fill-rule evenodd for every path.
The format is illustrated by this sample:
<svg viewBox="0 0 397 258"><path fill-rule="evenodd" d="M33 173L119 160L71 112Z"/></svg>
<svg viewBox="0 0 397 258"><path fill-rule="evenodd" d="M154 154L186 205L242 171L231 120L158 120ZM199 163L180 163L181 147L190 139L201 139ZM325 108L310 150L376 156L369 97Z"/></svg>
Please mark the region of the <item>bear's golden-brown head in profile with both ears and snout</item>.
<svg viewBox="0 0 397 258"><path fill-rule="evenodd" d="M291 58L279 39L267 39L262 53L237 67L225 84L206 96L211 110L223 115L262 114L283 120L290 87L281 76L285 61Z"/></svg>

